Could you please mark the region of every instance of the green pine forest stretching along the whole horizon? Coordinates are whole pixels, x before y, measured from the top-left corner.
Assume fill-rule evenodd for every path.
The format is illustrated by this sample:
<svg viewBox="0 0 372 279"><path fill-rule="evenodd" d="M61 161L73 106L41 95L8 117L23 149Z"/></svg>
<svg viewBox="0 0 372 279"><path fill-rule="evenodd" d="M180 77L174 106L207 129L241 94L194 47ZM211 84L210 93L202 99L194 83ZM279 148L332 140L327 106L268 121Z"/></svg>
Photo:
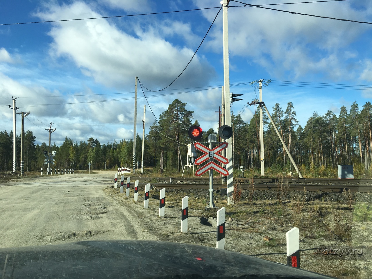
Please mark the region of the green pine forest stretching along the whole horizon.
<svg viewBox="0 0 372 279"><path fill-rule="evenodd" d="M292 102L286 104L283 110L276 103L271 112L280 135L287 145L292 157L301 172L317 173L319 176L334 176L337 165L354 165L360 175L371 175L372 162L372 105L366 102L362 109L356 102L347 111L341 106L337 116L328 110L323 116L314 112L302 127L296 119L296 111ZM158 117L158 122L150 126L145 135L144 166L163 168L180 172L186 164L187 144L192 140L187 131L192 125L199 125L197 119L192 122L193 111L186 109L186 103L175 99ZM268 117L263 111L264 122L264 158L267 173L293 171L278 135ZM233 128L232 148L233 166L239 169L245 166L253 172L260 169L259 158L259 109L249 123L241 119L241 115L234 115L232 111L231 124ZM208 141L209 134L217 134L213 128L203 131L203 139ZM20 169L20 135L17 135L17 170ZM23 135L23 161L25 171L36 171L46 168L44 165L44 150L48 145L35 145L36 137L31 130ZM63 143L51 145L51 151L57 151L55 165L52 168L87 170L91 162L91 169L117 169L118 167L132 167L133 139L108 142L101 144L97 138L90 137L87 141L71 140L67 136ZM141 167L142 139L136 137L136 162ZM200 155L200 154L198 154ZM13 161L13 132L0 131L0 171L12 170ZM136 164L137 168L137 164ZM335 172L336 171L336 172Z"/></svg>

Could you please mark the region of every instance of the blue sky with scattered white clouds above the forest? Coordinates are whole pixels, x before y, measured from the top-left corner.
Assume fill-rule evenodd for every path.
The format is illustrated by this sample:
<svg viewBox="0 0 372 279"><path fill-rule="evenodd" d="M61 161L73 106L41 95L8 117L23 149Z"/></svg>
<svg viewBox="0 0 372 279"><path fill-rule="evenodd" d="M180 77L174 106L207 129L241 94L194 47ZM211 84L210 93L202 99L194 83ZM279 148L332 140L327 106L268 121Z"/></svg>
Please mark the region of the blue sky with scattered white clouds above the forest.
<svg viewBox="0 0 372 279"><path fill-rule="evenodd" d="M304 0L301 0L304 2ZM250 1L250 4L290 1ZM299 1L294 1L299 2ZM0 24L80 19L220 7L216 0L100 0L0 2ZM264 6L310 15L372 22L368 0ZM97 138L102 144L133 138L134 83L148 89L167 86L185 68L217 15L217 9L0 26L0 130L13 129L12 96L17 97L37 143L48 141L49 123L57 128L52 142ZM228 11L230 91L244 94L235 114L249 121L258 96L250 82L272 80L263 100L272 110L294 104L302 126L317 111L338 115L356 101L360 109L372 98L372 25L293 15L230 1ZM283 86L277 81L289 81ZM312 87L298 87L298 83ZM314 88L313 83L353 84L358 90ZM195 111L202 128L218 128L223 84L222 12L182 76L167 91L145 92L155 116L174 99ZM297 85L297 86L294 86ZM192 89L191 89L192 88ZM353 87L354 88L354 87ZM203 89L203 90L201 90ZM146 90L145 90L146 91ZM182 93L187 92L187 93ZM137 133L154 115L138 86ZM148 127L146 133L148 132ZM20 116L17 116L17 134Z"/></svg>

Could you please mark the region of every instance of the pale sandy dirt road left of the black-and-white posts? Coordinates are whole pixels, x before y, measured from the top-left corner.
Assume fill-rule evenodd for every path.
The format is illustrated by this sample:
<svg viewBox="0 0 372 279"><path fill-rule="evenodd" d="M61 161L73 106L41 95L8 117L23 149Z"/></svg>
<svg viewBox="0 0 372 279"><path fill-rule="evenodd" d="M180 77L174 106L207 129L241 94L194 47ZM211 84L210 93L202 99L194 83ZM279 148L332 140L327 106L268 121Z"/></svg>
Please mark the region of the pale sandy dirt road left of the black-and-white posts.
<svg viewBox="0 0 372 279"><path fill-rule="evenodd" d="M103 193L110 172L64 174L0 185L0 247L77 240L148 239L132 212Z"/></svg>

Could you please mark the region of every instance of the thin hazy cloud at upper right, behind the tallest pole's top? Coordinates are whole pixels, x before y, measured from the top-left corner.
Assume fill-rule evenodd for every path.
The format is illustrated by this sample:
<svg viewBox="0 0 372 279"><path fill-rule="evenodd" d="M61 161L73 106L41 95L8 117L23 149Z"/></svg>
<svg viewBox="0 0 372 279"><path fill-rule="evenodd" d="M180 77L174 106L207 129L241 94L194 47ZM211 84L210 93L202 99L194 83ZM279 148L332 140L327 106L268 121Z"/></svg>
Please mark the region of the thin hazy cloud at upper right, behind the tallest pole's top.
<svg viewBox="0 0 372 279"><path fill-rule="evenodd" d="M211 7L216 3L214 0L193 2L198 7ZM260 4L257 0L250 3ZM368 7L357 9L352 7L351 2L330 2L277 5L274 8L370 21L372 4L366 2L365 5ZM216 10L203 11L209 21L212 21L215 14ZM222 52L221 16L214 25L209 37L212 39L207 44L215 52ZM228 10L230 57L246 57L247 63L261 65L275 76L288 71L292 77L298 78L325 71L334 80L354 78L350 77L349 68L356 53L350 51L349 45L357 41L368 28L360 23L291 15L255 7L230 7Z"/></svg>

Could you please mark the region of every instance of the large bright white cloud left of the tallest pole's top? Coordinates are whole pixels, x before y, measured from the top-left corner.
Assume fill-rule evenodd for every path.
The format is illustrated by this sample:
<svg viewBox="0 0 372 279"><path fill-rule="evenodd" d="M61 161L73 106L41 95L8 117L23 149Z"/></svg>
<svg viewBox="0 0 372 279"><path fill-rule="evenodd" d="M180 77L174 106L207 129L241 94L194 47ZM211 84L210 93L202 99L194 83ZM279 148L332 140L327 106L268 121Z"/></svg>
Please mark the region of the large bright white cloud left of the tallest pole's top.
<svg viewBox="0 0 372 279"><path fill-rule="evenodd" d="M51 6L48 12L38 16L55 20L100 15L87 4L76 2L70 6ZM187 29L185 26L183 29ZM151 28L138 29L137 37L134 37L104 19L56 23L49 35L54 39L50 51L52 56L67 57L83 74L92 76L98 83L121 89L132 84L137 74L151 89L167 86L193 54L189 48L174 47ZM177 87L190 83L198 85L213 75L214 70L196 55L176 84Z"/></svg>

